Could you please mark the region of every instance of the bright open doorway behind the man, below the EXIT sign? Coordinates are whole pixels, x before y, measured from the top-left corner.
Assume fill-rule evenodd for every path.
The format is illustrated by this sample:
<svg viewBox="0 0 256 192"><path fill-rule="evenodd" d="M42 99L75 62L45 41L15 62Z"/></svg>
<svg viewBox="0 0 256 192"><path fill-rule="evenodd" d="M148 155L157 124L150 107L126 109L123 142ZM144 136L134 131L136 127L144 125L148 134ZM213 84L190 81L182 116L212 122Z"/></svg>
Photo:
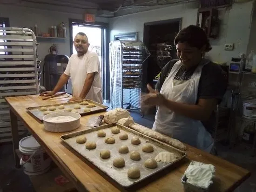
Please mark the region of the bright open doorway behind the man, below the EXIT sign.
<svg viewBox="0 0 256 192"><path fill-rule="evenodd" d="M83 20L69 19L70 29L70 52L76 53L73 45L77 33L83 32L87 35L90 46L89 51L98 54L101 66L101 85L104 101L110 97L109 90L109 65L108 65L108 23L88 23Z"/></svg>

